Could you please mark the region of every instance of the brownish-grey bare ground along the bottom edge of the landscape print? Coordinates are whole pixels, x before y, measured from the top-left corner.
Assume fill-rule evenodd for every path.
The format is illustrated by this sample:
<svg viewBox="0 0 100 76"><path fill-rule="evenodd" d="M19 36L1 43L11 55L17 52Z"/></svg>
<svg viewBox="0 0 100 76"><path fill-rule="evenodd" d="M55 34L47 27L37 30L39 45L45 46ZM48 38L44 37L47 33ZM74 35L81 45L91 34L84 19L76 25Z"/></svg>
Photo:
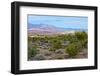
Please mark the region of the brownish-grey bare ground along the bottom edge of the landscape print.
<svg viewBox="0 0 100 76"><path fill-rule="evenodd" d="M58 59L83 59L87 58L87 49L82 49L75 57L70 58L65 49L57 49L56 51L48 51L48 49L38 48L39 53L30 58L30 60L58 60Z"/></svg>

